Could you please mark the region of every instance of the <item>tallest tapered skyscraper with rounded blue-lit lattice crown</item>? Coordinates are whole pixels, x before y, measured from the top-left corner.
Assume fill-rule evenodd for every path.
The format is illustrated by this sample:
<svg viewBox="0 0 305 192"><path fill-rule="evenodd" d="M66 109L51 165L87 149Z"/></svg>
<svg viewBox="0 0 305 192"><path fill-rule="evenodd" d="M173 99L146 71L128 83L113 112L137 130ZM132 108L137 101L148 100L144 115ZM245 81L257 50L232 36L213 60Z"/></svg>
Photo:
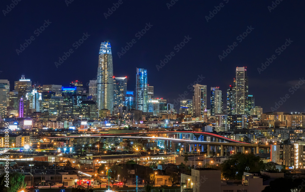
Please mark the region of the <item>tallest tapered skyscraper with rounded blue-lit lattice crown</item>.
<svg viewBox="0 0 305 192"><path fill-rule="evenodd" d="M113 110L113 62L110 43L103 42L99 50L97 71L97 108Z"/></svg>

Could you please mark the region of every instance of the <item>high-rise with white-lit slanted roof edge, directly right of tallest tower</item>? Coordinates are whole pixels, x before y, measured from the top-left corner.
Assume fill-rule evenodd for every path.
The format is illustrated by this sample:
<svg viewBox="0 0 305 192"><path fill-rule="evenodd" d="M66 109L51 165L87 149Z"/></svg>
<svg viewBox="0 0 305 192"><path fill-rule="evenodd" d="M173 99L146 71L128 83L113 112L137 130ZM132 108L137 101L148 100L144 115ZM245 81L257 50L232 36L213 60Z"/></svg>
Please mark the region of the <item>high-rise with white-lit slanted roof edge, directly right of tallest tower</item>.
<svg viewBox="0 0 305 192"><path fill-rule="evenodd" d="M113 106L124 105L127 91L127 77L113 77Z"/></svg>

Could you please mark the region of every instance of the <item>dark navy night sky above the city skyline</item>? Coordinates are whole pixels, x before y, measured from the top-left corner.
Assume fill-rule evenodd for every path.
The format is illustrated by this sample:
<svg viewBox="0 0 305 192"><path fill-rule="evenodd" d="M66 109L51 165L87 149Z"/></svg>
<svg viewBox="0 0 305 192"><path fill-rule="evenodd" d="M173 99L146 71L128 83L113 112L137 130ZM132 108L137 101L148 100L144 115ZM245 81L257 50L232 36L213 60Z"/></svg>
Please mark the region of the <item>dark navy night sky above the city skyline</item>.
<svg viewBox="0 0 305 192"><path fill-rule="evenodd" d="M254 95L256 106L269 112L275 106L274 102L288 94L289 98L283 104L280 102L282 106L277 111L305 111L305 81L300 81L300 78L305 79L304 1L277 0L274 8L271 0L172 0L172 4L175 2L172 6L170 0L74 0L68 6L67 2L70 0L23 0L11 5L13 9L7 8L12 4L11 0L0 2L0 79L8 79L11 90L22 73L41 85L68 86L75 80L86 84L96 78L99 47L106 41L112 46L113 74L128 76L128 90L135 89L136 67L144 68L149 85L154 86L155 97L174 103L184 97L184 92L186 98L192 98L188 86L192 86L199 75L205 77L199 78L199 84L207 85L208 100L210 87L220 87L226 103L226 90L233 84L235 67L247 67L249 94ZM118 2L121 4L116 4ZM113 3L119 7L106 15L106 19L104 13L108 14ZM35 31L43 25L47 26L44 31ZM137 34L148 25L145 34ZM247 29L249 33L244 33ZM76 46L74 43L84 36L83 33L90 36ZM237 38L243 33L246 37ZM20 44L26 43L31 36L35 39L19 52ZM185 36L189 37L185 40L188 42L181 48L175 47ZM132 39L136 41L132 47L118 56ZM277 50L286 39L289 46ZM219 55L234 42L237 46L221 61ZM69 49L73 53L57 68L54 62L59 62L59 57ZM174 56L158 70L156 65L171 52ZM259 73L257 68L272 55L276 58ZM290 89L299 81L303 85Z"/></svg>

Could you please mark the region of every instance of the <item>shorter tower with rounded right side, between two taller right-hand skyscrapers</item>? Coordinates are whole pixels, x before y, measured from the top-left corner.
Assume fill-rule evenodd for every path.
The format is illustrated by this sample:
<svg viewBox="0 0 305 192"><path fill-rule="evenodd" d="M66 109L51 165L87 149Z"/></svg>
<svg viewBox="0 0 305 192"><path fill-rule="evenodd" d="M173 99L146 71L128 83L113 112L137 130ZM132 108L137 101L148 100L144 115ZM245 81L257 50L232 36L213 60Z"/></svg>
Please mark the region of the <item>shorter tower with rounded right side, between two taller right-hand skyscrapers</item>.
<svg viewBox="0 0 305 192"><path fill-rule="evenodd" d="M223 111L223 94L219 87L211 87L211 116Z"/></svg>

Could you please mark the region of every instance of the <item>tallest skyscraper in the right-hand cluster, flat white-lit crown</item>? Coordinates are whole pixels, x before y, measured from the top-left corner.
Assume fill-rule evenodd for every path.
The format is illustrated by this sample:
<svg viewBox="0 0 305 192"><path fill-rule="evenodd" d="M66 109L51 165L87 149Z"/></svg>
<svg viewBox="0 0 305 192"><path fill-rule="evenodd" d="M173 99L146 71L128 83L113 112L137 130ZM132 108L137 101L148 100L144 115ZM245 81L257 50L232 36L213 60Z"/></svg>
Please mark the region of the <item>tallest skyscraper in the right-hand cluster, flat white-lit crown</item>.
<svg viewBox="0 0 305 192"><path fill-rule="evenodd" d="M236 114L249 115L248 76L246 67L236 67Z"/></svg>

